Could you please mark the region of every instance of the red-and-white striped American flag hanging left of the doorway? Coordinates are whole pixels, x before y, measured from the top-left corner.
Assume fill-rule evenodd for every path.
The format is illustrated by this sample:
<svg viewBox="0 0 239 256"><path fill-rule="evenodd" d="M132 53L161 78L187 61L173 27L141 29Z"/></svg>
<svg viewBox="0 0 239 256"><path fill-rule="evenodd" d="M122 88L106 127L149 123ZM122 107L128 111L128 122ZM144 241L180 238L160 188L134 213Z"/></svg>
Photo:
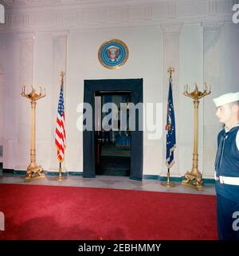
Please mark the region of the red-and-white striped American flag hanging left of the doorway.
<svg viewBox="0 0 239 256"><path fill-rule="evenodd" d="M57 128L55 143L57 146L57 158L60 162L64 160L65 154L65 111L64 111L64 97L63 97L63 81L61 81L60 98L58 102L57 111Z"/></svg>

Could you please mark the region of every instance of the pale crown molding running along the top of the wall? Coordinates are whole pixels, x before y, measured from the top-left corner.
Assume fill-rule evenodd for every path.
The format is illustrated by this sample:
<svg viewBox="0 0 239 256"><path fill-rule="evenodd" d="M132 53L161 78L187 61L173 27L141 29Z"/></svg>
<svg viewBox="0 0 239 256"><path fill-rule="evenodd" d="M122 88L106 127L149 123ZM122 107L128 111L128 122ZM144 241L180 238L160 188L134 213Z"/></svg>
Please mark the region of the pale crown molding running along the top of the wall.
<svg viewBox="0 0 239 256"><path fill-rule="evenodd" d="M6 24L0 33L161 26L178 32L182 24L229 22L235 0L2 0Z"/></svg>

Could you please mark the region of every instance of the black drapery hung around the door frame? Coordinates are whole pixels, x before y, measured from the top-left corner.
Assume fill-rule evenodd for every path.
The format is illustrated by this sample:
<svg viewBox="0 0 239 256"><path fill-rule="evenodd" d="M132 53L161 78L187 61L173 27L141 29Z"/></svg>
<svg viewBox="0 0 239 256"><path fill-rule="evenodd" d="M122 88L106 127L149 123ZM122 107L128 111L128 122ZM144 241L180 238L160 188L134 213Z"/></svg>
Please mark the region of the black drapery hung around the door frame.
<svg viewBox="0 0 239 256"><path fill-rule="evenodd" d="M95 92L96 91L129 91L131 102L143 103L143 78L140 79L107 79L84 81L84 103L92 105L93 131L83 132L83 176L96 177L95 170ZM140 113L140 111L139 111ZM143 115L143 111L141 111ZM135 131L131 131L131 172L130 179L141 180L143 176L143 116L135 115Z"/></svg>

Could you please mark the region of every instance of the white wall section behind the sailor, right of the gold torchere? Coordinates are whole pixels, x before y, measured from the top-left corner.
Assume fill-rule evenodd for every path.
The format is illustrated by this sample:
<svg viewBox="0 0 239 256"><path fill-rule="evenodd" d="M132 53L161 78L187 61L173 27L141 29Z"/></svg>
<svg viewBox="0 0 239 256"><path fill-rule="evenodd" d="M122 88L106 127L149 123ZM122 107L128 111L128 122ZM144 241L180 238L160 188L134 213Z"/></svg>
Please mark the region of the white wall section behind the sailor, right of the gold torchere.
<svg viewBox="0 0 239 256"><path fill-rule="evenodd" d="M215 22L204 26L204 80L212 93L206 96L203 109L203 170L211 177L217 152L217 133L222 124L215 116L213 98L239 90L239 26Z"/></svg>

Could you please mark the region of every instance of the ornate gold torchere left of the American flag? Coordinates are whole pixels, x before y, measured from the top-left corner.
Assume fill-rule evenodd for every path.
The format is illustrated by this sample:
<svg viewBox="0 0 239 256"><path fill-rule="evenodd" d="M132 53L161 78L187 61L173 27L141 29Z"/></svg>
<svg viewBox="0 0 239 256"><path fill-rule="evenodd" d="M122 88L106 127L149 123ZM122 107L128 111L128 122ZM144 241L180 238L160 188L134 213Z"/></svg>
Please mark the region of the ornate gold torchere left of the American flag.
<svg viewBox="0 0 239 256"><path fill-rule="evenodd" d="M40 93L36 93L36 90L33 89L32 87L32 90L30 93L25 93L25 86L23 86L21 95L31 100L31 109L32 109L30 163L25 173L25 181L30 181L33 179L45 178L45 174L43 172L42 167L40 165L37 166L37 163L36 163L36 104L37 104L36 101L45 97L45 90L44 90L44 93L42 93L42 89L40 87Z"/></svg>

